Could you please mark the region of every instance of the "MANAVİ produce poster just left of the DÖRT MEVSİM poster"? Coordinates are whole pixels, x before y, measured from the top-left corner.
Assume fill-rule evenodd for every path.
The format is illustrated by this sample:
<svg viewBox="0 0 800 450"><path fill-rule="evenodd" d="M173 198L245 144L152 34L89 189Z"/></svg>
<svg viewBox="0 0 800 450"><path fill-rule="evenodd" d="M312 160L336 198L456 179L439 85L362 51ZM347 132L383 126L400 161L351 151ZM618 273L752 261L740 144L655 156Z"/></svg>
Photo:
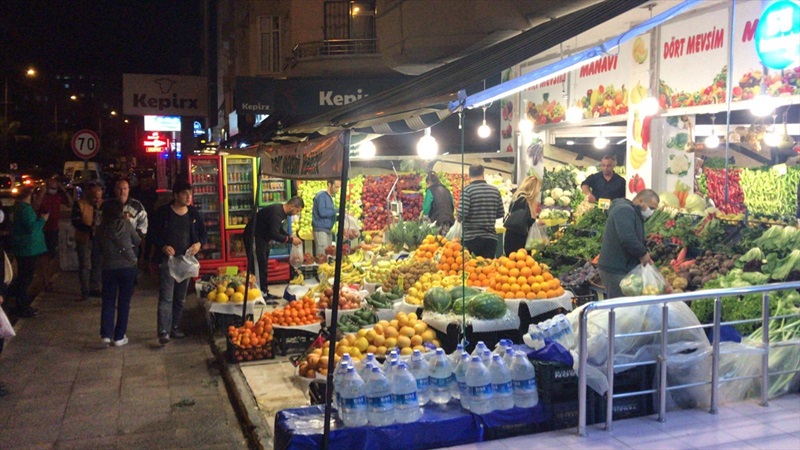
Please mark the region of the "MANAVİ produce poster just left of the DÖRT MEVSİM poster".
<svg viewBox="0 0 800 450"><path fill-rule="evenodd" d="M644 40L636 39L635 42L638 47L635 54L634 43L628 42L611 54L584 64L570 73L573 83L570 100L573 106L583 108L584 118L628 113L630 85L626 82L630 77L631 65L635 59L647 59Z"/></svg>

